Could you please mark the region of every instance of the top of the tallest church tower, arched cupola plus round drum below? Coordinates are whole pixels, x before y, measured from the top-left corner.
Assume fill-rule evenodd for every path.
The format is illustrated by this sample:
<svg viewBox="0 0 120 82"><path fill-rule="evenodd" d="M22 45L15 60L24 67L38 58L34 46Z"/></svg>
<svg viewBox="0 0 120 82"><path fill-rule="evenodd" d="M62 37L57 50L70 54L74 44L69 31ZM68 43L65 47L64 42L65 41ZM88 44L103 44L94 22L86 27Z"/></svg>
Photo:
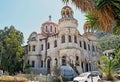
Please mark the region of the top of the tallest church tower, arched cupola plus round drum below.
<svg viewBox="0 0 120 82"><path fill-rule="evenodd" d="M74 12L71 7L64 6L61 9L61 19L59 19L60 31L64 28L77 28L78 22L73 16Z"/></svg>

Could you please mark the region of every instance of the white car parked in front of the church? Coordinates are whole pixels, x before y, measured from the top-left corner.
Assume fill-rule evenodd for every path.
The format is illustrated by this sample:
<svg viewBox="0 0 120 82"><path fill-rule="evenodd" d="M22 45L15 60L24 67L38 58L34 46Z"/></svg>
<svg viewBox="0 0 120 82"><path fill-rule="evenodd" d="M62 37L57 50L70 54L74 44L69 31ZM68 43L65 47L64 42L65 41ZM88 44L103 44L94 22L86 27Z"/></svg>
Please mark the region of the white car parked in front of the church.
<svg viewBox="0 0 120 82"><path fill-rule="evenodd" d="M73 79L73 82L100 82L99 75L92 74L91 72L85 72Z"/></svg>

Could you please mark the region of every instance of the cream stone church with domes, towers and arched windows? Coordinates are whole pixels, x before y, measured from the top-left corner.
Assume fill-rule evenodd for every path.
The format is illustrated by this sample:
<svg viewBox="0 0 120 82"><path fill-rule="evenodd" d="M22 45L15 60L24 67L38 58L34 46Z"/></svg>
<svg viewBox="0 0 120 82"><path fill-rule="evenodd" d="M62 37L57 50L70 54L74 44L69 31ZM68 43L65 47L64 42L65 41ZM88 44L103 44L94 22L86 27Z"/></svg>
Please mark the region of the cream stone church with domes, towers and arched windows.
<svg viewBox="0 0 120 82"><path fill-rule="evenodd" d="M84 28L78 31L78 22L69 6L61 10L58 24L49 20L41 25L41 32L32 32L26 46L24 64L30 64L34 73L52 73L54 66L76 69L79 73L96 70L99 50L95 33Z"/></svg>

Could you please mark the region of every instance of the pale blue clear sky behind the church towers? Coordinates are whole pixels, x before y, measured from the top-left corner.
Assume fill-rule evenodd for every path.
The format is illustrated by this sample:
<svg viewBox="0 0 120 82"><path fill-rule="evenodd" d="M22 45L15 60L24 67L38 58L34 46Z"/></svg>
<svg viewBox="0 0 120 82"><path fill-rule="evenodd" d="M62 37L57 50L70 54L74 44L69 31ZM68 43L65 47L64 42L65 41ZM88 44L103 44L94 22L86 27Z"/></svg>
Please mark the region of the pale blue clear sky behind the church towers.
<svg viewBox="0 0 120 82"><path fill-rule="evenodd" d="M23 32L24 44L32 32L41 32L41 25L52 17L58 24L61 18L61 9L65 6L62 0L0 0L0 29L5 26L15 26ZM74 11L74 18L78 20L78 30L83 34L85 14L69 3Z"/></svg>

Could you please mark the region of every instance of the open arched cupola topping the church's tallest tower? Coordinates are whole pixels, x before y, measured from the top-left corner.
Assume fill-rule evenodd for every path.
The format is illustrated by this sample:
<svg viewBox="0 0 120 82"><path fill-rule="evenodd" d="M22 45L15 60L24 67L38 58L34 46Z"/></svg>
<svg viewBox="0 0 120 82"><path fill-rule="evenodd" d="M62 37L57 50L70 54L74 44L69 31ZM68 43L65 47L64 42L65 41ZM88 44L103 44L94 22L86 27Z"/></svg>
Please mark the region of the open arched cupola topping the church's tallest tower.
<svg viewBox="0 0 120 82"><path fill-rule="evenodd" d="M62 18L72 18L73 17L73 10L69 6L64 6L61 10Z"/></svg>

